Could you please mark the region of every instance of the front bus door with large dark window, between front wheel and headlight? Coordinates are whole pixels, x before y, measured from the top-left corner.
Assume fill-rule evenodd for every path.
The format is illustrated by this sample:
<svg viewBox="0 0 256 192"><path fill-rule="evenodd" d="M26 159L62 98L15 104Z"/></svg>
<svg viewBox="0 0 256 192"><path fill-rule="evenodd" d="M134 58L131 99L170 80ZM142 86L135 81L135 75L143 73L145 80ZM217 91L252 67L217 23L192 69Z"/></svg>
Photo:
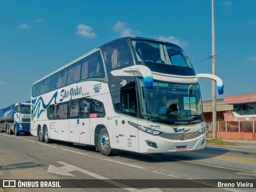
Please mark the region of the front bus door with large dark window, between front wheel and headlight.
<svg viewBox="0 0 256 192"><path fill-rule="evenodd" d="M128 151L139 152L138 145L138 129L128 123L128 121L137 124L137 101L135 88L128 88L121 90L120 92L120 111L128 117L121 117L118 122L119 126L122 126L122 149ZM124 123L124 124L123 124Z"/></svg>

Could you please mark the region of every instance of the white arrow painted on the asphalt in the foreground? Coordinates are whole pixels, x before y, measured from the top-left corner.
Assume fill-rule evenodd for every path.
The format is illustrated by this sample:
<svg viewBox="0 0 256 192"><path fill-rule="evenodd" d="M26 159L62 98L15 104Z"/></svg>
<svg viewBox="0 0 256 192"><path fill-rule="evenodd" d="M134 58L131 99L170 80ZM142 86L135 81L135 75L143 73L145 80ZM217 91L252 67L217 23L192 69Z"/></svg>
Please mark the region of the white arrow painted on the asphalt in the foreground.
<svg viewBox="0 0 256 192"><path fill-rule="evenodd" d="M76 166L74 166L74 165L70 165L70 164L65 163L65 162L63 162L63 161L58 161L57 163L60 163L60 164L62 164L62 165L64 165L64 166L57 168L57 167L54 167L53 165L50 165L49 168L48 168L48 170L47 170L47 172L51 172L51 173L55 173L55 174L64 174L64 175L74 176L74 175L72 175L72 174L70 174L70 173L68 173L68 172L74 171L74 170L78 170L78 171L83 172L83 173L85 173L85 174L88 174L88 175L90 175L90 176L92 176L92 177L94 177L94 178L97 178L97 179L100 179L100 180L104 180L105 182L108 182L108 183L110 183L110 184L112 184L112 185L118 186L119 188L122 188L122 189L127 190L127 191L138 192L138 191L148 191L148 190L149 190L149 189L138 190L138 189L135 189L135 188L130 188L130 187L127 186L127 185L121 184L121 183L119 183L119 182L116 182L116 181L111 180L111 179L109 179L109 178L106 178L106 177L104 177L104 176L100 176L100 175L95 174L95 173L93 173L93 172L90 172L90 171L88 171L88 170L84 170L84 169L82 169L82 168L76 167ZM153 189L151 189L151 190L154 191L154 192L162 192L162 191L161 191L160 189L158 189L158 188L153 188Z"/></svg>

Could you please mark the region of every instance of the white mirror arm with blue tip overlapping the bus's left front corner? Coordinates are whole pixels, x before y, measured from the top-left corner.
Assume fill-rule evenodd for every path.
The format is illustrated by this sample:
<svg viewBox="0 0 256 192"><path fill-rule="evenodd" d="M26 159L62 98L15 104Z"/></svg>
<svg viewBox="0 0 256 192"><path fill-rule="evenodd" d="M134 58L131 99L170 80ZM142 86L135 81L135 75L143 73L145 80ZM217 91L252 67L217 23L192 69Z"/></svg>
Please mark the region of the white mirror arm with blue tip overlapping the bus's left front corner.
<svg viewBox="0 0 256 192"><path fill-rule="evenodd" d="M144 65L134 65L124 69L111 71L114 76L142 76L146 88L153 88L153 76L151 70Z"/></svg>

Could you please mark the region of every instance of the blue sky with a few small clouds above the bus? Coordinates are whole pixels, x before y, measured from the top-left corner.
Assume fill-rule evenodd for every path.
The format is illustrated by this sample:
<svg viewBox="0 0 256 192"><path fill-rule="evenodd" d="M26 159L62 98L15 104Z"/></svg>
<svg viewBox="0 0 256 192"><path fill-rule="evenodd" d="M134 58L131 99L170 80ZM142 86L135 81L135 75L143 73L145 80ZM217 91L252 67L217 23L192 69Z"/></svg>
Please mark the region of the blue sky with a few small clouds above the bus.
<svg viewBox="0 0 256 192"><path fill-rule="evenodd" d="M214 4L216 74L224 81L217 98L256 92L256 1ZM0 29L0 108L30 100L29 80L119 37L176 43L192 63L212 55L211 0L2 0ZM194 68L212 73L212 60ZM202 100L212 99L211 80L201 80L200 89Z"/></svg>

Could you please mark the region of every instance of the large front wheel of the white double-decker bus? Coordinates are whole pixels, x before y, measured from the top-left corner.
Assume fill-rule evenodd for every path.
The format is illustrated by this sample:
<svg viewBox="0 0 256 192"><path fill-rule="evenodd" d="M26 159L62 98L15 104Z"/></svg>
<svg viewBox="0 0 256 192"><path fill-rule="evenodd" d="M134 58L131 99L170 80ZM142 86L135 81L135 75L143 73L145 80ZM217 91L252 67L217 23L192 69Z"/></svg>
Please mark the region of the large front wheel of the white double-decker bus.
<svg viewBox="0 0 256 192"><path fill-rule="evenodd" d="M108 130L105 127L100 130L98 137L98 148L100 149L100 153L104 156L109 156L113 153L113 149L110 147Z"/></svg>

